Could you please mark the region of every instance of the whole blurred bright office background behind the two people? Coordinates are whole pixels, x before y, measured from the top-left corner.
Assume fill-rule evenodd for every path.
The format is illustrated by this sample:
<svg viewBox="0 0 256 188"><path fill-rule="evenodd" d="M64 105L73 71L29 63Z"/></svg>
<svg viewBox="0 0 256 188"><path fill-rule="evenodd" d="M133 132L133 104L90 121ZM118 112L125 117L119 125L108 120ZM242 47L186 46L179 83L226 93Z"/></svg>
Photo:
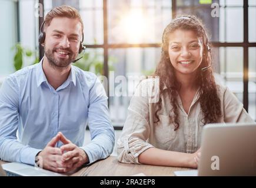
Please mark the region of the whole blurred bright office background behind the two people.
<svg viewBox="0 0 256 188"><path fill-rule="evenodd" d="M108 93L123 78L153 73L165 26L176 15L197 15L214 45L216 78L256 120L256 0L0 0L0 85L7 75L42 58L39 27L49 10L63 4L77 8L84 21L87 49L75 65L109 78ZM131 82L124 95L109 96L115 130L124 125L127 95L135 88Z"/></svg>

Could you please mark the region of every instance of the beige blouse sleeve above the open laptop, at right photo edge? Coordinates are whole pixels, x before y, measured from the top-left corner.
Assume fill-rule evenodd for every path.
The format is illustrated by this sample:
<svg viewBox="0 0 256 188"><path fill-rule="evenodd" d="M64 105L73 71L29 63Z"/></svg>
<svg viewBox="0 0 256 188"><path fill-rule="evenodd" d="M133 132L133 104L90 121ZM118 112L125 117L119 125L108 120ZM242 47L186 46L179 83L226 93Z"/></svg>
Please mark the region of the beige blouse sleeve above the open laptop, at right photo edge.
<svg viewBox="0 0 256 188"><path fill-rule="evenodd" d="M224 90L224 122L255 123L242 103L227 87Z"/></svg>

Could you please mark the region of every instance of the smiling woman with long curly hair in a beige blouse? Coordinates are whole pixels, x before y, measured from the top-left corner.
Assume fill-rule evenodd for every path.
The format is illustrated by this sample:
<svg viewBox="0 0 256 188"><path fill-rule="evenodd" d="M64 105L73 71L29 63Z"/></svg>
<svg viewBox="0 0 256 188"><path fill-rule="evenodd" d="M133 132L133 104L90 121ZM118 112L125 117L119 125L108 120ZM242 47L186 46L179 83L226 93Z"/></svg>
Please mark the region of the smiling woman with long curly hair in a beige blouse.
<svg viewBox="0 0 256 188"><path fill-rule="evenodd" d="M205 124L254 122L231 91L215 82L211 62L198 18L181 16L165 28L155 79L143 80L131 99L119 162L197 168ZM152 102L152 96L159 100Z"/></svg>

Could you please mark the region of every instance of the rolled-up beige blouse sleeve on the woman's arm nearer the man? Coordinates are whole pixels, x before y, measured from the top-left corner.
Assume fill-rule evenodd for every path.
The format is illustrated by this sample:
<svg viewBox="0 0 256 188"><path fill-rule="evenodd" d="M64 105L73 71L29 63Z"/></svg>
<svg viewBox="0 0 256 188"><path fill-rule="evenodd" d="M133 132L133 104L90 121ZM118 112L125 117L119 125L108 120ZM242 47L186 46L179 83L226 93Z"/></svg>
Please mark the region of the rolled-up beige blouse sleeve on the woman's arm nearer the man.
<svg viewBox="0 0 256 188"><path fill-rule="evenodd" d="M147 86L148 80L143 80L131 98L127 120L117 142L119 162L139 164L138 156L154 147L147 142L151 131Z"/></svg>

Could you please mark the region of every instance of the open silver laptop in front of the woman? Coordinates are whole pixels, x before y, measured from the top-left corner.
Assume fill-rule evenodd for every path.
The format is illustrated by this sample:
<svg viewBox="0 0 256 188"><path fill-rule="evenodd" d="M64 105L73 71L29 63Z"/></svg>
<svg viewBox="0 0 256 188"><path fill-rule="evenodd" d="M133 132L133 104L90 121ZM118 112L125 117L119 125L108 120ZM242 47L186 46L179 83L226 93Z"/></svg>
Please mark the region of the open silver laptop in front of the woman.
<svg viewBox="0 0 256 188"><path fill-rule="evenodd" d="M256 176L256 123L205 125L198 170L175 176Z"/></svg>

